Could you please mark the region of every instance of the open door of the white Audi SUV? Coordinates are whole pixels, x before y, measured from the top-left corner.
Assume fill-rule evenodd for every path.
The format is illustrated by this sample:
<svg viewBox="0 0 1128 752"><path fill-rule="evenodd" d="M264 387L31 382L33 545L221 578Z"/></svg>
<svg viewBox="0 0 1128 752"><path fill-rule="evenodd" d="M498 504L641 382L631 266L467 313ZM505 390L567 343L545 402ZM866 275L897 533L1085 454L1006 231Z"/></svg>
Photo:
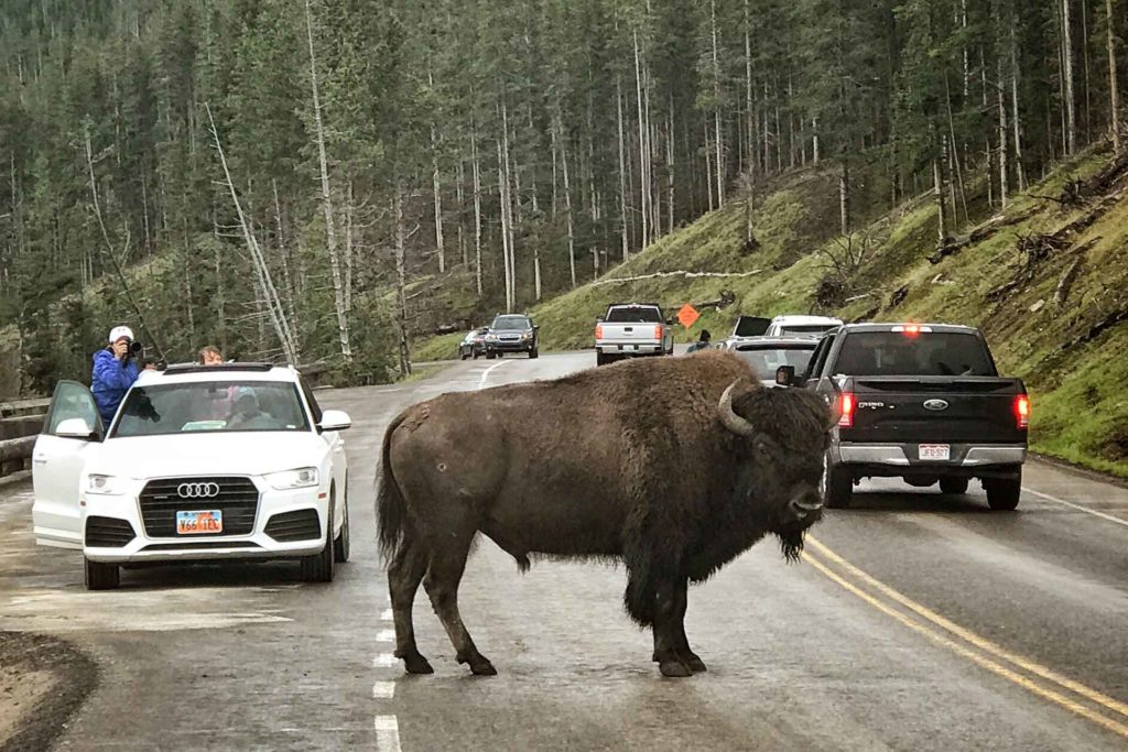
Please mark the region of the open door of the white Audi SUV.
<svg viewBox="0 0 1128 752"><path fill-rule="evenodd" d="M60 381L43 433L32 450L32 521L41 546L82 548L79 480L87 457L97 451L97 440L103 435L102 417L90 390L77 381Z"/></svg>

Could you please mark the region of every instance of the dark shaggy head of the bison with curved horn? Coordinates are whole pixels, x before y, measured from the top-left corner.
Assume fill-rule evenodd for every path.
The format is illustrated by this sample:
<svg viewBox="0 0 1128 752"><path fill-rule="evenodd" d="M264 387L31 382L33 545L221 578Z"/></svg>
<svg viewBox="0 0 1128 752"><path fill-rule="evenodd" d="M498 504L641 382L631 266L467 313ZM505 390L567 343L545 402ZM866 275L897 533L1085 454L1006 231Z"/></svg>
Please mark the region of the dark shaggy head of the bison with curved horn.
<svg viewBox="0 0 1128 752"><path fill-rule="evenodd" d="M764 525L779 537L784 556L799 558L803 532L822 516L823 457L836 422L805 389L724 390L721 423L747 443L749 496Z"/></svg>

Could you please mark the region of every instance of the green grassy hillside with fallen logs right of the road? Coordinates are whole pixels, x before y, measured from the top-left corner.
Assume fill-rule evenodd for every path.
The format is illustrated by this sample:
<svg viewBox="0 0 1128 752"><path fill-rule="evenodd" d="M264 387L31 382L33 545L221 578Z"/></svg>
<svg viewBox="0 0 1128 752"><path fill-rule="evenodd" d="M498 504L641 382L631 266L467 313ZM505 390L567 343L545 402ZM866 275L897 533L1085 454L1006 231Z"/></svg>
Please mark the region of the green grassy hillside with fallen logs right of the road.
<svg viewBox="0 0 1128 752"><path fill-rule="evenodd" d="M1005 373L1025 379L1037 451L1128 477L1128 161L1078 157L992 216L982 196L969 196L966 231L976 240L966 235L943 258L934 257L934 204L910 202L855 235L854 248L864 242L866 253L845 273L830 263L841 256L841 239L830 237L831 177L807 171L775 186L755 212L755 249L743 241L743 206L733 204L534 309L544 350L590 347L608 302L676 310L722 290L735 304L704 311L691 329L679 327L679 339L702 328L723 337L740 312L969 324L982 328ZM742 276L616 282L669 272ZM422 343L415 355L450 357L459 337Z"/></svg>

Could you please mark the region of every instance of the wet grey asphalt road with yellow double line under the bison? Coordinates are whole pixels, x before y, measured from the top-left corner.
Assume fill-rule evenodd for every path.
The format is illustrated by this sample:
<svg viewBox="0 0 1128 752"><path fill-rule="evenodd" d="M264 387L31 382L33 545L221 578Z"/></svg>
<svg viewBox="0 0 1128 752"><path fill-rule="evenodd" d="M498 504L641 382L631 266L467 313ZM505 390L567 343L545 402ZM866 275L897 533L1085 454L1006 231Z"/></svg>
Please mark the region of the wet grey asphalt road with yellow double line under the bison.
<svg viewBox="0 0 1128 752"><path fill-rule="evenodd" d="M353 560L155 568L88 593L80 558L37 549L30 490L0 499L0 630L64 636L102 681L78 750L1125 750L1128 490L1028 466L1015 513L977 484L944 501L865 484L786 565L770 542L690 591L710 672L663 680L622 610L624 573L535 563L483 540L460 607L501 672L478 679L423 593L406 676L376 555L372 474L387 422L450 390L561 375L590 353L475 361L414 383L323 392L347 409Z"/></svg>

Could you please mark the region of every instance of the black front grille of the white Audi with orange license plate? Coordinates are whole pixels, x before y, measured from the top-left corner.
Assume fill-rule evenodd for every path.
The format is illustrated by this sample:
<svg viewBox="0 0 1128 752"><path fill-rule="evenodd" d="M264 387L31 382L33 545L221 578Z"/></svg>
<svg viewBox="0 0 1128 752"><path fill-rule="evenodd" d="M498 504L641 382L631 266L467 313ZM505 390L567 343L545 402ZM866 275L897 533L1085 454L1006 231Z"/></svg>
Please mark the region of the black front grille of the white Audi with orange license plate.
<svg viewBox="0 0 1128 752"><path fill-rule="evenodd" d="M182 495L183 494L183 495ZM215 538L247 536L255 530L258 488L250 478L161 478L146 484L141 495L141 520L149 538ZM223 530L218 533L176 533L177 512L223 513Z"/></svg>

